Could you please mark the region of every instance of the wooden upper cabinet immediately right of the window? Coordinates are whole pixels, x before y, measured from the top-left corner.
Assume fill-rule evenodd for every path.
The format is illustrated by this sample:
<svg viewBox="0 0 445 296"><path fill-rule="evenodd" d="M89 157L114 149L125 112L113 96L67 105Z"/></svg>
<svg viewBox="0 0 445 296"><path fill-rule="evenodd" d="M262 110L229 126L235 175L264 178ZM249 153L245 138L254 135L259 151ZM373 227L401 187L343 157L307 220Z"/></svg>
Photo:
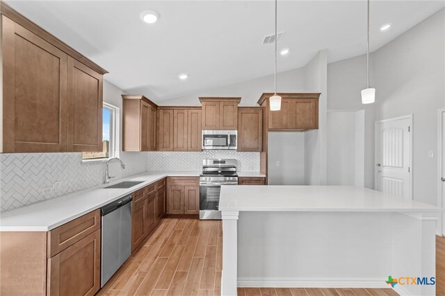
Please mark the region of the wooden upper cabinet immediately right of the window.
<svg viewBox="0 0 445 296"><path fill-rule="evenodd" d="M156 151L157 105L145 96L122 95L122 150Z"/></svg>

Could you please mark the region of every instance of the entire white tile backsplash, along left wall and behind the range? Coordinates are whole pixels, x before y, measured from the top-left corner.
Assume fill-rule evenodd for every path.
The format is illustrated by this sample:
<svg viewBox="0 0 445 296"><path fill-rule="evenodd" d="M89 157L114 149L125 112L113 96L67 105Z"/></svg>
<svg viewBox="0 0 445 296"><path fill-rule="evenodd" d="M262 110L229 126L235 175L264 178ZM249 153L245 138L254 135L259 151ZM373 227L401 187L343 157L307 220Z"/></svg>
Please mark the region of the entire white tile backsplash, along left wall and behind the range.
<svg viewBox="0 0 445 296"><path fill-rule="evenodd" d="M110 164L116 179L145 171L201 171L204 158L238 159L238 171L259 171L259 153L120 153L126 169ZM23 207L104 183L103 162L82 163L81 153L0 154L0 211Z"/></svg>

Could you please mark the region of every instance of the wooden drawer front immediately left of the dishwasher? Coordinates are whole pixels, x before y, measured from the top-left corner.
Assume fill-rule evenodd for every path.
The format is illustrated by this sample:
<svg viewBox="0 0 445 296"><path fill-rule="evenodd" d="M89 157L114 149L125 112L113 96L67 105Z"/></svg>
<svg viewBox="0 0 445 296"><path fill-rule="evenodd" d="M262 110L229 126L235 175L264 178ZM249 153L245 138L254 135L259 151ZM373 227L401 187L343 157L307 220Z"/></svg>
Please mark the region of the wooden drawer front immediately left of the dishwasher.
<svg viewBox="0 0 445 296"><path fill-rule="evenodd" d="M100 209L48 232L48 258L74 245L100 228Z"/></svg>

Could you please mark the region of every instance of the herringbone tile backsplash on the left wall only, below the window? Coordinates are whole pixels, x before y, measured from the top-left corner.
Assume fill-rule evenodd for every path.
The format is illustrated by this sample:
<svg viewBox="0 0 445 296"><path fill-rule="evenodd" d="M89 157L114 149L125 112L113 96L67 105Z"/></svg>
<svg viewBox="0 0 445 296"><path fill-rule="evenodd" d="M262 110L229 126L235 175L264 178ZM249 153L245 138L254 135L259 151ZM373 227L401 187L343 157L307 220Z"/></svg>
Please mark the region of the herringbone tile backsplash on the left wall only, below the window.
<svg viewBox="0 0 445 296"><path fill-rule="evenodd" d="M120 153L126 169L110 163L117 179L147 171L147 153ZM103 184L104 162L82 163L81 153L0 154L0 211Z"/></svg>

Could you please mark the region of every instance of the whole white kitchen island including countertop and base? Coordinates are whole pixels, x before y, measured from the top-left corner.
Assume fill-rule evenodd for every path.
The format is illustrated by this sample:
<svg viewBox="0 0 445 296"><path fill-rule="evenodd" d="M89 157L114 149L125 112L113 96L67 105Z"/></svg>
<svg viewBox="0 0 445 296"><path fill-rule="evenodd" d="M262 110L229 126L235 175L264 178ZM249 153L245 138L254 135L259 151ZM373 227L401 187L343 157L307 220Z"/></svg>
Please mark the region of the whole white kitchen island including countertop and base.
<svg viewBox="0 0 445 296"><path fill-rule="evenodd" d="M223 186L222 294L236 287L388 288L435 277L441 209L354 186ZM434 285L401 282L403 295Z"/></svg>

